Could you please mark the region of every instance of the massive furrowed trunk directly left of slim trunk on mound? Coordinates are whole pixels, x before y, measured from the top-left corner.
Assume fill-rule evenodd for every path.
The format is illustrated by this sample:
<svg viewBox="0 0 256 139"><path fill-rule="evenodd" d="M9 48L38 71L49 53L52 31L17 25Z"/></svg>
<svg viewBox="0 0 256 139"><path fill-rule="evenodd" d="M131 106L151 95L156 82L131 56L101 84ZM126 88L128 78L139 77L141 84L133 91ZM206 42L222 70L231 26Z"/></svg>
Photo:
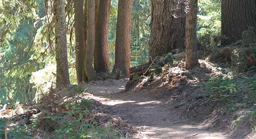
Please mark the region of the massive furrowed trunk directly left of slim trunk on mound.
<svg viewBox="0 0 256 139"><path fill-rule="evenodd" d="M175 6L173 0L151 0L149 50L152 60L174 48L185 48L185 18L173 16L182 15L184 11Z"/></svg>

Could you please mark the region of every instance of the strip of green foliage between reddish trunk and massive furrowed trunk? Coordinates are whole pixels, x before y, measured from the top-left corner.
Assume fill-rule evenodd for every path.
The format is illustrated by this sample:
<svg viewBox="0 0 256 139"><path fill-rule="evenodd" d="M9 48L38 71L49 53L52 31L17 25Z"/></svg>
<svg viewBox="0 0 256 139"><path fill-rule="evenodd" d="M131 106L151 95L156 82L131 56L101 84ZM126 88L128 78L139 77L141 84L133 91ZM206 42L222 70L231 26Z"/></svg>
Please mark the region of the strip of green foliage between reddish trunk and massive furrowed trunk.
<svg viewBox="0 0 256 139"><path fill-rule="evenodd" d="M146 63L149 59L151 3L136 0L132 9L131 66Z"/></svg>

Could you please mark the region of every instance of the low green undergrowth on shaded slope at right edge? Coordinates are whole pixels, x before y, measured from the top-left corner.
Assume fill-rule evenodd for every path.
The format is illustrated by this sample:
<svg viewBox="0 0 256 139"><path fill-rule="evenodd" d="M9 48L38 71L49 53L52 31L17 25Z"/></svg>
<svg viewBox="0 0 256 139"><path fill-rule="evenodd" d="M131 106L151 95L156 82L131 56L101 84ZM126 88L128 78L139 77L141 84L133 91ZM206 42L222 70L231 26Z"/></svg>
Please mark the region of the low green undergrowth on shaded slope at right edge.
<svg viewBox="0 0 256 139"><path fill-rule="evenodd" d="M233 79L224 76L210 78L202 86L212 102L225 104L229 111L255 110L256 75L240 76Z"/></svg>

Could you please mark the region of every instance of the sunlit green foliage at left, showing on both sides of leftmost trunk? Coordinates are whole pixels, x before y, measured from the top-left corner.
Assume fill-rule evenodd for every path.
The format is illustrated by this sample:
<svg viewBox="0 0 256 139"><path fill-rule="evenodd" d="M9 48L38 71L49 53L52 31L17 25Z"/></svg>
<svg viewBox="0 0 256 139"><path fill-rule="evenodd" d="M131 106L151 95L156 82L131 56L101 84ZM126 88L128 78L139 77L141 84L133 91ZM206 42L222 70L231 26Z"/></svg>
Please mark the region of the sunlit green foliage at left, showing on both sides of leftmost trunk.
<svg viewBox="0 0 256 139"><path fill-rule="evenodd" d="M51 45L54 39L52 16L34 24L46 15L44 6L47 5L43 0L0 1L0 106L31 102L36 93L38 100L51 86L52 72L56 73L56 67L52 66L55 64L55 51ZM68 20L74 19L72 17ZM72 23L68 23L71 28ZM2 25L8 25L7 32L1 30ZM68 31L69 44L74 36L70 34ZM71 51L72 45L68 46L70 81L76 83L74 51Z"/></svg>

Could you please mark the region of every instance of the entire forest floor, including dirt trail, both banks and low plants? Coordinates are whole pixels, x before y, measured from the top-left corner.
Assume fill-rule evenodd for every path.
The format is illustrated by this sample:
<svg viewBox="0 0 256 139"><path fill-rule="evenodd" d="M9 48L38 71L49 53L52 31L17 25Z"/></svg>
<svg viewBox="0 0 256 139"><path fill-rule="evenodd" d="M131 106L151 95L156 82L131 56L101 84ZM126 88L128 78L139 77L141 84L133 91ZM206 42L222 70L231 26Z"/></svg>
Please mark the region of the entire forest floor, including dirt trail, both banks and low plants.
<svg viewBox="0 0 256 139"><path fill-rule="evenodd" d="M225 66L199 63L50 89L38 104L0 110L0 138L256 139L255 72L225 79Z"/></svg>

